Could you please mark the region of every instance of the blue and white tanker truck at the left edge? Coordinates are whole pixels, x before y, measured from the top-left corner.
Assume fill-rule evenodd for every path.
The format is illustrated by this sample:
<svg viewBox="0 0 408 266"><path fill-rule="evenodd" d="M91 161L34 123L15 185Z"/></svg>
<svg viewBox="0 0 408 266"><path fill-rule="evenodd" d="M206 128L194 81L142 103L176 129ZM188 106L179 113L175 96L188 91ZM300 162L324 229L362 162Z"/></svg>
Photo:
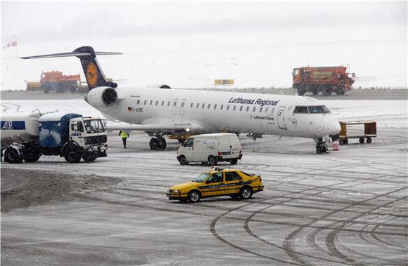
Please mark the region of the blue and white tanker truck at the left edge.
<svg viewBox="0 0 408 266"><path fill-rule="evenodd" d="M106 122L75 113L1 114L1 155L11 164L35 162L42 155L64 157L68 163L106 157Z"/></svg>

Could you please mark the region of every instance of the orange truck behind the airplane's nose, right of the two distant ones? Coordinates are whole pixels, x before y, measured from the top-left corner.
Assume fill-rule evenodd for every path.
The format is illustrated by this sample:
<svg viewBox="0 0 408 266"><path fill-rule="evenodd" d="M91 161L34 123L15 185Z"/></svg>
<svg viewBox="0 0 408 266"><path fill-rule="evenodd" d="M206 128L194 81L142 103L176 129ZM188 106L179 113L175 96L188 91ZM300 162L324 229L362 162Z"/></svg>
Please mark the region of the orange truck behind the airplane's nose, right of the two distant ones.
<svg viewBox="0 0 408 266"><path fill-rule="evenodd" d="M298 95L307 92L317 95L344 95L352 89L355 73L348 73L348 67L299 67L293 69L293 89ZM351 77L349 77L351 75Z"/></svg>

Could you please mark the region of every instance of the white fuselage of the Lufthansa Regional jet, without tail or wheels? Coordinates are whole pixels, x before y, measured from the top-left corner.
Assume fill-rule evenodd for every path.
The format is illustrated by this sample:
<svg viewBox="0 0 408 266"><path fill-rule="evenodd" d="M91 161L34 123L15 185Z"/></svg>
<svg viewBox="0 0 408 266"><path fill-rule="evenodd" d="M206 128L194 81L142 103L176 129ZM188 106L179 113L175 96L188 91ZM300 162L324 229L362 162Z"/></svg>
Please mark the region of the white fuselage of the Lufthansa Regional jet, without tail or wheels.
<svg viewBox="0 0 408 266"><path fill-rule="evenodd" d="M191 125L191 133L234 132L317 139L340 132L338 119L331 113L294 113L296 106L323 105L304 96L164 88L116 91L115 105L87 101L108 119L144 125L186 124Z"/></svg>

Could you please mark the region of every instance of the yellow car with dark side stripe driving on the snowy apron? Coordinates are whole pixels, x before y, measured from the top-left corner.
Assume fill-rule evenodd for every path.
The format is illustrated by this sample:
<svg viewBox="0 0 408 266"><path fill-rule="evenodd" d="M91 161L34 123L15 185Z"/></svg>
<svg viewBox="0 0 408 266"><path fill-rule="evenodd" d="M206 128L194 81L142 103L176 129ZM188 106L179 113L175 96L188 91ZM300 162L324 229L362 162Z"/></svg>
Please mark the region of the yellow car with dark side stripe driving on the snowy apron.
<svg viewBox="0 0 408 266"><path fill-rule="evenodd" d="M170 187L166 196L179 201L198 202L208 197L230 196L250 199L264 189L260 175L240 170L214 168L198 175L195 180Z"/></svg>

